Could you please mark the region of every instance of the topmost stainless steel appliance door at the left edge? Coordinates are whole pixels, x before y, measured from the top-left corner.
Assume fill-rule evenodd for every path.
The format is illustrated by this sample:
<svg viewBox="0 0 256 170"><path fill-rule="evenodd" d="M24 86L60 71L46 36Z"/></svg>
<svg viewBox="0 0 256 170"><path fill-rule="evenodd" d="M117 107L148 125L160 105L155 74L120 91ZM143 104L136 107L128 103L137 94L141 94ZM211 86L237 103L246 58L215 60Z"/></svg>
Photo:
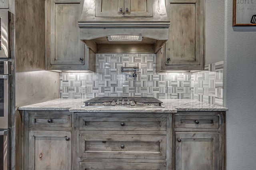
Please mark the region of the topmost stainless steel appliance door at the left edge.
<svg viewBox="0 0 256 170"><path fill-rule="evenodd" d="M9 26L10 12L7 9L0 9L0 58L10 57Z"/></svg>

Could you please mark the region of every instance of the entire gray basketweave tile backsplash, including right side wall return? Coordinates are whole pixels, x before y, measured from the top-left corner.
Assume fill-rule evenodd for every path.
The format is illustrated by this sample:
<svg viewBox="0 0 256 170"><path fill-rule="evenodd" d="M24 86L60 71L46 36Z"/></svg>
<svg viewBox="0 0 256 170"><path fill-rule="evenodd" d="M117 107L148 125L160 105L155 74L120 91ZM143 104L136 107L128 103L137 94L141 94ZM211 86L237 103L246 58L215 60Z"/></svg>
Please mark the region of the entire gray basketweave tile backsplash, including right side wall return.
<svg viewBox="0 0 256 170"><path fill-rule="evenodd" d="M122 66L138 66L137 77L121 72ZM95 73L60 73L60 98L156 97L222 105L222 79L223 62L196 73L156 73L155 54L96 54Z"/></svg>

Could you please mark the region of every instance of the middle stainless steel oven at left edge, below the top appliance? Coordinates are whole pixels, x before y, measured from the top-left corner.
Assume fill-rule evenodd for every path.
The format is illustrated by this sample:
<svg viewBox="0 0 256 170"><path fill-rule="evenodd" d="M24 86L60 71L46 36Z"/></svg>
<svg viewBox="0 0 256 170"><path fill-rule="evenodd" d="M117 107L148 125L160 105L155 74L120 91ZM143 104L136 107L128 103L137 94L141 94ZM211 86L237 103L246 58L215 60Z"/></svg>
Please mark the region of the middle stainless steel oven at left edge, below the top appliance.
<svg viewBox="0 0 256 170"><path fill-rule="evenodd" d="M0 129L10 128L10 61L0 61Z"/></svg>

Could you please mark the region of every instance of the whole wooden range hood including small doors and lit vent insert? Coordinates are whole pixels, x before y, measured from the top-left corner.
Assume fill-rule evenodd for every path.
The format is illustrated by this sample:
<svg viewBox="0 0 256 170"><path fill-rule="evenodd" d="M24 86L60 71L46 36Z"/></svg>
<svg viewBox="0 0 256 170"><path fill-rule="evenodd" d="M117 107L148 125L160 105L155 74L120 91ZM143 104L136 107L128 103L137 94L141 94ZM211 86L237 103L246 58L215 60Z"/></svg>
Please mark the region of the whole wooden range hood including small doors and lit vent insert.
<svg viewBox="0 0 256 170"><path fill-rule="evenodd" d="M94 53L156 53L170 21L164 0L84 0L78 26Z"/></svg>

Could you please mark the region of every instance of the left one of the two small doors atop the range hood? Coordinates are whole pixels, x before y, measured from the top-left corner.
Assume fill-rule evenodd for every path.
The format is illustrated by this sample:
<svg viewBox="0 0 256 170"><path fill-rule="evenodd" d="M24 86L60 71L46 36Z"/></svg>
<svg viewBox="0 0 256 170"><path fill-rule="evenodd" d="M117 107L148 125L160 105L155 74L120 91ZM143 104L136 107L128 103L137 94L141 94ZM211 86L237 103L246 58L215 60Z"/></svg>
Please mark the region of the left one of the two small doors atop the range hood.
<svg viewBox="0 0 256 170"><path fill-rule="evenodd" d="M123 17L124 0L96 0L95 12L96 17Z"/></svg>

